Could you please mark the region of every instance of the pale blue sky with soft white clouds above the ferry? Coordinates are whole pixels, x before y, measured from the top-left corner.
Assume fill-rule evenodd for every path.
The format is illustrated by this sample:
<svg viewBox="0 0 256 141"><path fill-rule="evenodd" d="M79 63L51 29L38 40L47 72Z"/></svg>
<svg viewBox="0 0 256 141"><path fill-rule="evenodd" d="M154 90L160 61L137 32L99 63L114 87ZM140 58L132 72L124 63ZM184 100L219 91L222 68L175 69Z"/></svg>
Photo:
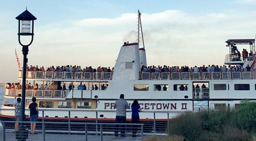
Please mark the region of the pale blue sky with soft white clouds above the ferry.
<svg viewBox="0 0 256 141"><path fill-rule="evenodd" d="M36 16L28 65L114 67L123 42L137 42L142 13L147 64L223 65L228 39L254 39L256 0L0 0L0 82L18 82L19 14ZM140 42L142 47L142 42ZM238 46L242 48L249 46Z"/></svg>

